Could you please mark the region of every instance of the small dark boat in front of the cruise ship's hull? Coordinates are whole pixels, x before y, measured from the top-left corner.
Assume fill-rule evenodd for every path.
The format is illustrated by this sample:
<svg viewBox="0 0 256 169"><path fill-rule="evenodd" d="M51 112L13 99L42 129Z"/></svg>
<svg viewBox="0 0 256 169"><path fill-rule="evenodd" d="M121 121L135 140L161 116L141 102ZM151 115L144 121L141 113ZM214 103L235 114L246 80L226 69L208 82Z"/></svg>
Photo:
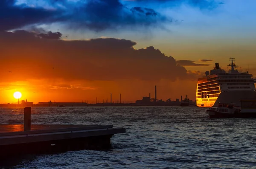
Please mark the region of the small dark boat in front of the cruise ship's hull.
<svg viewBox="0 0 256 169"><path fill-rule="evenodd" d="M256 99L241 99L241 107L235 104L219 103L206 112L209 118L256 118Z"/></svg>

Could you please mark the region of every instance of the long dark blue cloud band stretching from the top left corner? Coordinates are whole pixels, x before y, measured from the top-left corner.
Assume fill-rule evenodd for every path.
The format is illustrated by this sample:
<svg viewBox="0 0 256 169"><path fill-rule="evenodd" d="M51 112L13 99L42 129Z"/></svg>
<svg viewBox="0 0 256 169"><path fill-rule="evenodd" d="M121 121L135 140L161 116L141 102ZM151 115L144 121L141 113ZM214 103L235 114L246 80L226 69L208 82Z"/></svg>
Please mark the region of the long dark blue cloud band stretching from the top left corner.
<svg viewBox="0 0 256 169"><path fill-rule="evenodd" d="M169 21L151 8L127 7L120 0L46 0L55 10L15 5L15 0L0 2L0 31L21 28L29 24L64 22L70 28L94 31L134 28L138 25L158 25ZM63 8L60 8L63 6Z"/></svg>

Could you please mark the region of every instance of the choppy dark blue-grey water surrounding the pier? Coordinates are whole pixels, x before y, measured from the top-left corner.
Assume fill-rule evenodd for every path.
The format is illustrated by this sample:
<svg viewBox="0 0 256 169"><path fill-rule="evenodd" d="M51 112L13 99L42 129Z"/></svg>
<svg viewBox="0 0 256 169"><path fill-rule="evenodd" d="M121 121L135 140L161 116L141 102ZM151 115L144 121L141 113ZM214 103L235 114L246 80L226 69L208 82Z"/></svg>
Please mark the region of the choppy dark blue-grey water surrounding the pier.
<svg viewBox="0 0 256 169"><path fill-rule="evenodd" d="M197 107L32 107L32 124L113 124L109 151L24 158L14 168L256 168L256 119L209 119ZM0 124L23 122L0 109Z"/></svg>

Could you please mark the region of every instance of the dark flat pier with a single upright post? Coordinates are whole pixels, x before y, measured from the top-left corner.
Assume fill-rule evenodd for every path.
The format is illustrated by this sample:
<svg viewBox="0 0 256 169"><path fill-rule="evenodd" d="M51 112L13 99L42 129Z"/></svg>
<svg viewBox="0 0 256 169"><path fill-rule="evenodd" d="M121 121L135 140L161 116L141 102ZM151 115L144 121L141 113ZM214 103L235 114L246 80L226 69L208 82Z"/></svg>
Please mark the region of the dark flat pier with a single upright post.
<svg viewBox="0 0 256 169"><path fill-rule="evenodd" d="M0 157L109 149L111 137L125 133L125 128L113 125L31 125L30 113L30 107L25 107L24 124L0 124Z"/></svg>

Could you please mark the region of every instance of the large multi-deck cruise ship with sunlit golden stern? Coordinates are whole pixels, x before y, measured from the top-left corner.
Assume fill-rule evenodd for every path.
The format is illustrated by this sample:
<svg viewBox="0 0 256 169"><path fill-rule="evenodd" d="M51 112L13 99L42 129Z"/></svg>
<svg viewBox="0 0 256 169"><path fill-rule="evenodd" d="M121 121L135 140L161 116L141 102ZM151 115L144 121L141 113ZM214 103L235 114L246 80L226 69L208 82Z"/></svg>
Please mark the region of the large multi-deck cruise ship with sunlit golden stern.
<svg viewBox="0 0 256 169"><path fill-rule="evenodd" d="M256 79L248 72L236 70L235 59L230 58L231 69L226 73L218 63L198 79L196 102L198 107L217 107L218 103L240 107L240 99L256 98Z"/></svg>

